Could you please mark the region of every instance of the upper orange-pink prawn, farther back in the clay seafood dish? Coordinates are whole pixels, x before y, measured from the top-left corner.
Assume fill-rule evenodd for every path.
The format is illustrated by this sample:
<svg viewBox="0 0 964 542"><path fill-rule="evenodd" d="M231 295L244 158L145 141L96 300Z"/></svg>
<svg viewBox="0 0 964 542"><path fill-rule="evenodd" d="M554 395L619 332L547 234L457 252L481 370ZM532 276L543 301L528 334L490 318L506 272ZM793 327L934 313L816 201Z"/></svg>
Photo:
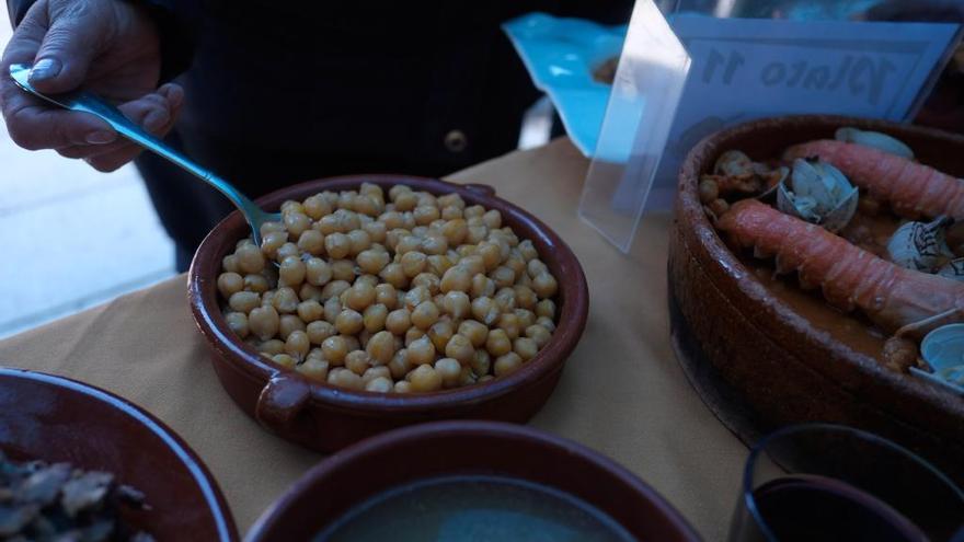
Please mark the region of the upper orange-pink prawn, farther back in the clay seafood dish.
<svg viewBox="0 0 964 542"><path fill-rule="evenodd" d="M894 212L917 219L941 215L964 219L964 180L929 165L872 147L834 139L819 139L787 149L783 159L818 157L844 172L853 184Z"/></svg>

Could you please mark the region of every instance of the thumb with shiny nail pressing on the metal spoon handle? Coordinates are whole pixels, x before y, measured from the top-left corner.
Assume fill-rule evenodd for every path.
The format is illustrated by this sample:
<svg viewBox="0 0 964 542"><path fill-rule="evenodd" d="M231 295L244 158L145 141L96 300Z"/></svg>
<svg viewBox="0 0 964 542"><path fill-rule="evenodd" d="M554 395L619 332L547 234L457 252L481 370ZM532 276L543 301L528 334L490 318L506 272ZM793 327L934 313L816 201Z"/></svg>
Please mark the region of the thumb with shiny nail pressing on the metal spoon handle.
<svg viewBox="0 0 964 542"><path fill-rule="evenodd" d="M104 30L97 18L65 10L51 13L50 26L34 57L30 82L41 92L58 93L77 89L87 79L96 55L99 34Z"/></svg>

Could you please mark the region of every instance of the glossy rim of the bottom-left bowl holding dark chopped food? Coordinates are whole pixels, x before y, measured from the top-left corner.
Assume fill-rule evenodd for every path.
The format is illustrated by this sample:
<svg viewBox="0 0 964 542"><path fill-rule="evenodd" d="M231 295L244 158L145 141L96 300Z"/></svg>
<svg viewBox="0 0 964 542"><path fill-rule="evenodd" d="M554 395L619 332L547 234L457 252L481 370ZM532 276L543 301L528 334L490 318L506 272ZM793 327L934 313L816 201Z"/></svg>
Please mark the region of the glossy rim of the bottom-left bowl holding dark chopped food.
<svg viewBox="0 0 964 542"><path fill-rule="evenodd" d="M204 461L202 461L197 453L187 446L184 439L163 422L158 419L153 414L117 394L71 378L30 369L0 366L0 378L4 377L47 384L57 389L58 393L61 393L64 390L70 393L77 393L91 401L105 403L112 410L119 411L124 413L125 416L135 419L138 425L157 435L163 441L164 447L173 452L191 473L192 480L204 495L205 501L207 503L207 509L215 520L219 540L241 540L238 534L238 526L234 523L234 518L231 515L231 509L218 486L217 480L215 480L207 465L205 465ZM79 466L82 468L83 465Z"/></svg>

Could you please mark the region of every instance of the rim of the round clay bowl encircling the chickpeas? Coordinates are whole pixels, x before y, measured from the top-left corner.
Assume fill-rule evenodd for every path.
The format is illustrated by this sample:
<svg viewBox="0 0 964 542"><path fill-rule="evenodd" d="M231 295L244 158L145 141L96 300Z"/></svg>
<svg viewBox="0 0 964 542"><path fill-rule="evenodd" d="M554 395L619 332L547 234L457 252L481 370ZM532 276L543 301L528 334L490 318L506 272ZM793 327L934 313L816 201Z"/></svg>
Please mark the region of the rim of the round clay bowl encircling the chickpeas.
<svg viewBox="0 0 964 542"><path fill-rule="evenodd" d="M404 416L408 414L426 414L433 410L477 405L497 400L520 388L527 388L543 379L550 378L562 370L585 330L589 310L589 290L582 265L572 249L544 222L525 209L495 195L495 189L484 184L458 184L439 178L415 175L393 174L359 174L322 177L306 181L272 192L257 199L257 204L272 210L277 209L286 199L308 197L319 192L331 189L357 188L364 182L374 182L382 187L394 184L408 184L414 189L432 194L458 193L469 205L482 205L486 209L498 209L503 215L503 226L507 226L506 211L513 215L512 222L532 232L524 231L520 240L542 238L541 244L554 247L554 264L550 265L547 255L540 251L540 258L559 282L556 299L560 313L556 328L550 342L536 356L515 372L495 378L481 384L472 384L451 390L426 393L398 394L346 390L326 382L318 382L301 376L295 370L275 366L259 355L253 348L240 341L228 328L223 314L217 304L216 277L208 269L219 269L222 254L211 254L213 247L221 242L221 238L230 235L240 240L248 235L246 223L239 211L231 212L207 234L202 241L187 272L188 302L194 321L202 335L218 354L234 368L242 370L249 378L257 379L267 384L272 379L287 376L308 384L310 402L325 404L352 411L382 416ZM514 226L517 233L518 226ZM530 234L535 233L535 234Z"/></svg>

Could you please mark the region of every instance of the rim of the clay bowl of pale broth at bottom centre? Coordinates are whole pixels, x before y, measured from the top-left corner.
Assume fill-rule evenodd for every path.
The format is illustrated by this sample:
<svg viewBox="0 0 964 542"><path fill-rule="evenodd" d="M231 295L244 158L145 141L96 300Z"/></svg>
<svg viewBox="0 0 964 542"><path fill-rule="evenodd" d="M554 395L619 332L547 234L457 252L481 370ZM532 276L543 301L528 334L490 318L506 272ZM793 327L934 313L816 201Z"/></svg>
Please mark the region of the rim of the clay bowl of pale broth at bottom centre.
<svg viewBox="0 0 964 542"><path fill-rule="evenodd" d="M326 483L326 480L330 478L332 474L349 468L352 463L365 461L372 455L377 457L387 451L391 451L399 446L410 443L416 445L420 441L431 440L436 437L481 437L491 439L493 443L501 443L503 446L512 446L513 442L527 441L553 448L560 452L565 452L570 457L576 458L579 462L595 465L631 487L633 493L649 501L653 508L667 520L667 522L672 523L675 530L679 532L685 540L690 540L692 542L699 542L702 540L689 521L687 521L687 519L668 500L666 500L666 498L656 492L656 489L651 487L640 476L626 466L622 466L615 460L585 445L526 425L489 420L441 420L416 424L381 433L343 448L321 460L318 464L302 474L301 477L291 484L280 497L268 506L248 531L248 535L244 539L245 542L264 542L268 540L265 537L267 537L273 530L278 529L279 522L284 519L288 510L297 505L300 499L305 498L307 492L318 484ZM461 471L451 471L452 474ZM416 480L428 478L435 475L416 476ZM507 474L506 476L521 477ZM552 484L546 483L546 485L551 486ZM391 486L377 488L370 494L370 496L378 495L390 487ZM597 503L592 503L583 497L579 498L611 516L610 511L602 509ZM363 500L352 503L347 509L351 510ZM320 526L319 530L323 527L324 526Z"/></svg>

